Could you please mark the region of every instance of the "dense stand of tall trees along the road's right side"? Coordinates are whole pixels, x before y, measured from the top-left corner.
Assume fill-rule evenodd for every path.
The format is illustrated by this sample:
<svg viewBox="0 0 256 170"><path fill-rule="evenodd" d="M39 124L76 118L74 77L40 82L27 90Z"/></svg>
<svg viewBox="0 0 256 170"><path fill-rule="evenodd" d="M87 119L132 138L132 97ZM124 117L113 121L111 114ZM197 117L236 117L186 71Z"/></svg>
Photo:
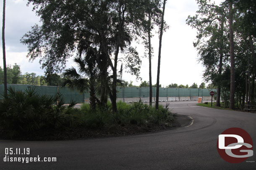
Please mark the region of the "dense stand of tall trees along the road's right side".
<svg viewBox="0 0 256 170"><path fill-rule="evenodd" d="M188 16L186 21L197 29L197 41L193 45L205 67L205 81L217 87L216 105L220 106L220 97L231 109L243 108L245 101L255 104L254 0L225 0L220 5L210 0L197 0L197 3L196 15Z"/></svg>

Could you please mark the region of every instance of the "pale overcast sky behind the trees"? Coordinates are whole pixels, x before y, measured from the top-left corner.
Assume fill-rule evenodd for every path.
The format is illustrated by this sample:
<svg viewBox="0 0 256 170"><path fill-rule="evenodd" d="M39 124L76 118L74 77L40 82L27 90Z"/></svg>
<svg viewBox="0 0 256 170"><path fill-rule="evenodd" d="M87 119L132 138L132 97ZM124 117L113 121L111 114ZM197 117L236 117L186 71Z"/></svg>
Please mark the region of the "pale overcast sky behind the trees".
<svg viewBox="0 0 256 170"><path fill-rule="evenodd" d="M215 2L218 2L217 0ZM3 2L0 4L0 17L3 18ZM198 5L196 0L169 0L165 8L165 20L170 28L163 34L160 84L167 86L171 83L188 84L191 86L194 82L198 85L203 82L202 74L204 68L198 62L197 51L193 47L193 41L196 40L196 30L186 25L185 20L188 15L195 15ZM1 19L2 21L2 19ZM44 70L40 69L39 60L29 62L26 58L27 47L20 43L21 37L31 29L35 23L39 23L39 17L32 11L32 6L26 6L26 0L7 0L5 13L5 48L6 63L13 65L17 63L21 66L22 74L34 72L37 75L44 75ZM2 28L2 22L0 23ZM2 34L0 35L2 39ZM2 50L2 43L0 43ZM157 57L158 57L158 36L152 39L154 48L154 57L152 58L152 83L157 81ZM137 47L140 56L144 55L144 48ZM3 58L3 53L0 52ZM67 63L67 68L73 64L71 58ZM0 59L0 66L3 68L3 59ZM149 81L149 61L142 58L141 77ZM135 76L123 73L125 81L136 82Z"/></svg>

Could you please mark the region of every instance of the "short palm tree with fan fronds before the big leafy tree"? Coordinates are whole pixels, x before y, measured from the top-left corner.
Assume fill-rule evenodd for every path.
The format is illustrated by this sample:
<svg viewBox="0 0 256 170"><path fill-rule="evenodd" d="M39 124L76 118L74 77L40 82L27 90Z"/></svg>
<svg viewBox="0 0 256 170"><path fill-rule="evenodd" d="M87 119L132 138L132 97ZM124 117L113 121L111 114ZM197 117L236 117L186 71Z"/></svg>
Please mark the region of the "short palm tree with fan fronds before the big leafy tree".
<svg viewBox="0 0 256 170"><path fill-rule="evenodd" d="M96 104L99 102L96 96L99 71L94 53L89 48L87 48L84 58L81 56L82 53L84 52L81 51L80 55L74 59L77 63L78 71L74 67L64 71L65 80L63 86L67 85L69 88L76 88L81 92L89 90L90 108L95 110Z"/></svg>

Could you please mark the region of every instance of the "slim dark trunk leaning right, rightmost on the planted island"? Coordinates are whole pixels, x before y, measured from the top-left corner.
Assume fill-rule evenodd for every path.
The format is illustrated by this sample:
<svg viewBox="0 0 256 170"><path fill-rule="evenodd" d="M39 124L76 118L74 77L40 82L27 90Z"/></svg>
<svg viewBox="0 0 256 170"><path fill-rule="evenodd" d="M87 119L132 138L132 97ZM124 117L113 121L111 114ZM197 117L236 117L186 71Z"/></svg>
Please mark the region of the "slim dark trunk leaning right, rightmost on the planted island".
<svg viewBox="0 0 256 170"><path fill-rule="evenodd" d="M159 76L160 76L160 61L161 61L161 48L162 48L162 36L164 28L164 15L165 15L165 3L163 4L162 18L161 18L161 27L160 27L160 36L159 36L159 50L158 50L158 64L157 64L157 94L156 94L156 109L159 105Z"/></svg>

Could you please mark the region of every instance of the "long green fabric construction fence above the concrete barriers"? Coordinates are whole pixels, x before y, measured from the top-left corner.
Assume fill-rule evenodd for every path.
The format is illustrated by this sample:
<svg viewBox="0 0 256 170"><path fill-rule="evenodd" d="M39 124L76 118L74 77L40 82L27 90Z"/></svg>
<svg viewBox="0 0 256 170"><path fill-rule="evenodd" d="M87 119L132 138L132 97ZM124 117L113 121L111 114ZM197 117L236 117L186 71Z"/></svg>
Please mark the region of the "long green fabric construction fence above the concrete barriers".
<svg viewBox="0 0 256 170"><path fill-rule="evenodd" d="M80 93L80 91L71 90L68 87L61 86L35 86L27 84L8 84L15 90L25 91L27 88L35 88L38 94L54 96L57 92L62 94L65 103L72 99L77 103L83 103L84 99L90 97L89 91ZM0 84L0 94L3 94L4 85ZM149 97L149 87L117 87L118 98ZM152 97L156 96L157 88L152 88ZM210 91L216 89L185 89L185 88L159 88L159 97L183 97L183 96L210 96ZM2 96L0 97L2 99Z"/></svg>

